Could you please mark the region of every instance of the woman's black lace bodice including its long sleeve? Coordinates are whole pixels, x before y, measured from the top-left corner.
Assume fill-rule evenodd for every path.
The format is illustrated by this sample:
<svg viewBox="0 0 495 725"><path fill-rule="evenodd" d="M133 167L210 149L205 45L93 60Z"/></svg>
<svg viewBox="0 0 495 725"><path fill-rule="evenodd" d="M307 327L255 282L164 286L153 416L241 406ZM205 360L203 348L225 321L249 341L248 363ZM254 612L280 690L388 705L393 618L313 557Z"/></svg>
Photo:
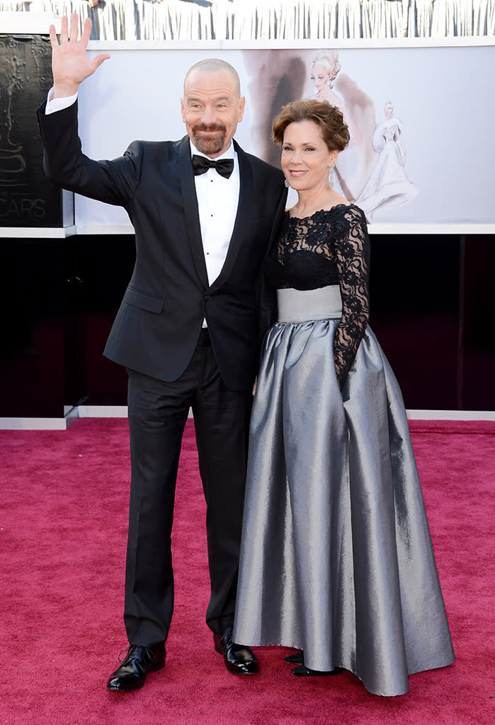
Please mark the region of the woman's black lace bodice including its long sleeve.
<svg viewBox="0 0 495 725"><path fill-rule="evenodd" d="M305 218L286 212L278 243L265 263L265 274L275 289L340 286L342 317L333 356L341 388L367 326L369 267L365 215L354 204L337 204Z"/></svg>

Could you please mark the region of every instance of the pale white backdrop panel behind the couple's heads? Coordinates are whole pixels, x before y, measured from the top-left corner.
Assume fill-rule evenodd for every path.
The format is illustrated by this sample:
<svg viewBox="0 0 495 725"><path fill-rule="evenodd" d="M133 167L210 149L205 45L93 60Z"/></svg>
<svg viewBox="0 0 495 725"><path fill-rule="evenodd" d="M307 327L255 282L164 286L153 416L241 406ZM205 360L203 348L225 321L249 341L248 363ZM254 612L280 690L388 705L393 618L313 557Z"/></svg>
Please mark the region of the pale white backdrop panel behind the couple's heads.
<svg viewBox="0 0 495 725"><path fill-rule="evenodd" d="M135 138L181 138L179 99L186 70L204 57L222 57L238 70L246 96L237 141L246 151L276 162L278 152L273 155L267 140L271 117L280 99L312 95L312 59L325 48L298 45L93 42L91 54L105 49L111 58L81 86L83 150L93 158L112 158ZM384 119L386 101L394 104L394 116L402 123L403 171L417 188L412 201L376 210L370 231L493 232L495 47L402 46L399 41L365 47L354 41L330 46L336 48L341 70L333 91L361 136L339 159L349 191L359 200L379 160L372 137ZM77 197L75 210L78 231L122 231L122 225L129 225L117 207Z"/></svg>

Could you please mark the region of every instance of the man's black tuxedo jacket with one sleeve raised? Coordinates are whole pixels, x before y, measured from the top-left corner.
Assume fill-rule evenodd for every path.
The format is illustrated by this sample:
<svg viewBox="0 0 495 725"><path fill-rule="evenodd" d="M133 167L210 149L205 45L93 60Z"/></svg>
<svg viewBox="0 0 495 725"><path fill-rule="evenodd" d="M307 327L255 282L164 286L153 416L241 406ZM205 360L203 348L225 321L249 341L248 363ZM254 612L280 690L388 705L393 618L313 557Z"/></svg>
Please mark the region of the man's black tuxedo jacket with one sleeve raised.
<svg viewBox="0 0 495 725"><path fill-rule="evenodd" d="M81 151L78 105L38 111L46 175L57 186L125 208L136 232L136 265L104 355L126 368L171 382L186 369L207 320L225 384L254 381L262 334L274 300L262 262L283 218L283 174L236 144L241 186L228 254L209 285L188 136L133 141L112 161ZM273 294L273 293L272 293Z"/></svg>

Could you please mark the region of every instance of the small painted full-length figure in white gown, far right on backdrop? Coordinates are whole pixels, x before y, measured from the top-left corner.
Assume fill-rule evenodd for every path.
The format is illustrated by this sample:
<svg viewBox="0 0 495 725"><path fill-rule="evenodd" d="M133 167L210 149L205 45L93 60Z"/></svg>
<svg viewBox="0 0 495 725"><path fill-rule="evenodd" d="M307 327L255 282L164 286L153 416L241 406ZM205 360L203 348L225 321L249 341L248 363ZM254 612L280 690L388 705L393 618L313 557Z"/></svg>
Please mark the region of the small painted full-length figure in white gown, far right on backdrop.
<svg viewBox="0 0 495 725"><path fill-rule="evenodd" d="M390 101L385 104L385 116L373 133L373 149L380 156L356 200L368 221L376 210L407 204L417 195L417 187L404 171L406 148L401 137L402 122L394 116Z"/></svg>

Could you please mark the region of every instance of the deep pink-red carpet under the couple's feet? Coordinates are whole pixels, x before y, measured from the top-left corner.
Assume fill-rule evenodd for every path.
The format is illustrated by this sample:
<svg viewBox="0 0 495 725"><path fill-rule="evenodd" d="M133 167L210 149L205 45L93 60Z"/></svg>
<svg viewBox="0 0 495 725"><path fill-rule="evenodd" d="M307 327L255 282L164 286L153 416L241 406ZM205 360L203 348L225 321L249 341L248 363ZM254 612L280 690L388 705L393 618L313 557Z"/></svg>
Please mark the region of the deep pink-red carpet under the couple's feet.
<svg viewBox="0 0 495 725"><path fill-rule="evenodd" d="M175 515L176 607L165 670L120 695L104 689L122 624L127 422L0 431L0 725L484 725L495 721L495 423L412 421L457 655L413 675L409 693L370 695L351 674L297 679L288 650L262 671L225 671L204 624L204 502L191 421Z"/></svg>

